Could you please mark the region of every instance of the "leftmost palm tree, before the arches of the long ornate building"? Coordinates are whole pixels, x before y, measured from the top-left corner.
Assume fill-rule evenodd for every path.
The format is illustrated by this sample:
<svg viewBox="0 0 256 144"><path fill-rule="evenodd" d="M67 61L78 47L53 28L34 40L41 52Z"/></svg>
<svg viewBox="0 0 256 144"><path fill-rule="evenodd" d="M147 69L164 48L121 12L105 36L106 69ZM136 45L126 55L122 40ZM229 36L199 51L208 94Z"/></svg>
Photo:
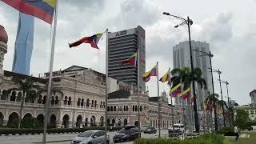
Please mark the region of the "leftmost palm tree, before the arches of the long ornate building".
<svg viewBox="0 0 256 144"><path fill-rule="evenodd" d="M17 88L10 89L11 90L21 90L22 91L22 99L21 99L21 109L19 111L19 118L18 118L18 129L21 127L22 122L22 110L24 106L25 96L28 100L34 100L37 98L38 94L36 90L38 89L38 85L34 85L34 81L32 77L28 77L25 79L22 78L16 78L14 77L13 82L15 85L17 85Z"/></svg>

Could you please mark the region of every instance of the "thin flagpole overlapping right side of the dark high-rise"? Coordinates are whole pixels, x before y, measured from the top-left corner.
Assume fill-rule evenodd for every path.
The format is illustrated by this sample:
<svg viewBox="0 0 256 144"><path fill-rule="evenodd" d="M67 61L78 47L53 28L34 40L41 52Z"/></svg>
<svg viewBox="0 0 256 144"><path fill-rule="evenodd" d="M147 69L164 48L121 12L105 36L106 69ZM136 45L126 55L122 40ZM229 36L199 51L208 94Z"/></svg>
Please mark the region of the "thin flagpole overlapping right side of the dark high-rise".
<svg viewBox="0 0 256 144"><path fill-rule="evenodd" d="M141 138L140 102L139 102L139 50L137 50L137 86L138 86L138 138Z"/></svg>

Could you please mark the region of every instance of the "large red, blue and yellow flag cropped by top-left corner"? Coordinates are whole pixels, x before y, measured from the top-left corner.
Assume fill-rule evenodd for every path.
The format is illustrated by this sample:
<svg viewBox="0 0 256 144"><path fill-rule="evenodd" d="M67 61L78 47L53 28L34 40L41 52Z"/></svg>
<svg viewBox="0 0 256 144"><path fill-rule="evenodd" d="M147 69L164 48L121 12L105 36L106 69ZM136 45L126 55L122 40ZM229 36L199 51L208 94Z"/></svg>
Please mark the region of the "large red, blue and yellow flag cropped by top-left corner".
<svg viewBox="0 0 256 144"><path fill-rule="evenodd" d="M42 19L49 24L53 21L56 0L2 0L2 2L24 14Z"/></svg>

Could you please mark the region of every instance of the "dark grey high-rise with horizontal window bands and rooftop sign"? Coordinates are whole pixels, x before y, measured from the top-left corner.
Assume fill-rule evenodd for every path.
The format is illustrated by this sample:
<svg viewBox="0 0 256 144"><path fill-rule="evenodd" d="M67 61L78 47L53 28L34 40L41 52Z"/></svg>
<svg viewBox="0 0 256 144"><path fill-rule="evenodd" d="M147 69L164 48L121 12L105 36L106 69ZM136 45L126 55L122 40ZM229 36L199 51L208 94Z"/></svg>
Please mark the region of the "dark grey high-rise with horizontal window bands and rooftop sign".
<svg viewBox="0 0 256 144"><path fill-rule="evenodd" d="M121 30L109 34L109 66L108 74L122 82L137 84L137 66L122 65L122 61L139 50L140 86L145 90L142 74L145 73L145 30L142 26L134 29Z"/></svg>

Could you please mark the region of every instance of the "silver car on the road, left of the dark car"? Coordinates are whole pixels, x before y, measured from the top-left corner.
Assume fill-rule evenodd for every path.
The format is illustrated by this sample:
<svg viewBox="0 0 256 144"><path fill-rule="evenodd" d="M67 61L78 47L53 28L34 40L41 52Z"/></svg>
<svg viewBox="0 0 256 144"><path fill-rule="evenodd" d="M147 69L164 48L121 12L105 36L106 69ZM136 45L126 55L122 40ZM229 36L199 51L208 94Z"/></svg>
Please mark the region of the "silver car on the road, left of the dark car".
<svg viewBox="0 0 256 144"><path fill-rule="evenodd" d="M106 138L110 143L110 137ZM103 144L105 143L105 131L87 130L71 140L71 144Z"/></svg>

